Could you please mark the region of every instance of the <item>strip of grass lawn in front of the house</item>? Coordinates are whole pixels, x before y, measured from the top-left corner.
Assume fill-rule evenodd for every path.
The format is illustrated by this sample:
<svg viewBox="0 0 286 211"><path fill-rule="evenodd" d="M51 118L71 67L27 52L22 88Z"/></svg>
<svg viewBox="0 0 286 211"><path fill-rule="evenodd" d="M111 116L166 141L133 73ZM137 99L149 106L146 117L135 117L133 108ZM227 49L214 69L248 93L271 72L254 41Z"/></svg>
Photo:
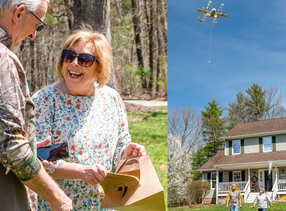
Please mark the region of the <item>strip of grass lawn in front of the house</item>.
<svg viewBox="0 0 286 211"><path fill-rule="evenodd" d="M239 211L257 211L257 204L255 208L252 208L253 203L242 203L241 209ZM168 211L192 211L192 210L203 210L203 211L229 211L226 205L212 205L209 207L188 207L188 208L168 208ZM268 210L268 209L267 209ZM270 204L270 211L284 211L286 210L286 202L272 202Z"/></svg>

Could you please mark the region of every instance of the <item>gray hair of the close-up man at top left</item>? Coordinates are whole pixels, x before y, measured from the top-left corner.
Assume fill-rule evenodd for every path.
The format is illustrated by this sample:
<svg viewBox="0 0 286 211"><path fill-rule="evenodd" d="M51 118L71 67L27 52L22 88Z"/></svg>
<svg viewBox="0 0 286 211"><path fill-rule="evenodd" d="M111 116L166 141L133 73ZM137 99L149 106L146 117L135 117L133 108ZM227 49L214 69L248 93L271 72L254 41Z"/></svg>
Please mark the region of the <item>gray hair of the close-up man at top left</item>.
<svg viewBox="0 0 286 211"><path fill-rule="evenodd" d="M17 8L20 5L24 5L28 12L35 12L42 1L50 2L50 0L0 0L0 15L4 15L12 8Z"/></svg>

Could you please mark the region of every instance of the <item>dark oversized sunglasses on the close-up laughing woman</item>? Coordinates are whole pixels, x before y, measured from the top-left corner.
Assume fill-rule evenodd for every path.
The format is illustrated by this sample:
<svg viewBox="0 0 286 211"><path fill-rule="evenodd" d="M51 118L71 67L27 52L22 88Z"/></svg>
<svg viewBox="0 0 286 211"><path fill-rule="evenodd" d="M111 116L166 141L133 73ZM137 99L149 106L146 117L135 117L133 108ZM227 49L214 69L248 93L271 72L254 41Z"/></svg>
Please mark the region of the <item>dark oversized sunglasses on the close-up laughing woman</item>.
<svg viewBox="0 0 286 211"><path fill-rule="evenodd" d="M62 61L63 62L72 62L74 61L74 58L77 57L77 60L79 64L83 67L90 67L94 61L96 61L98 64L98 60L95 58L95 56L91 54L76 54L76 52L73 52L72 50L64 49L62 51Z"/></svg>

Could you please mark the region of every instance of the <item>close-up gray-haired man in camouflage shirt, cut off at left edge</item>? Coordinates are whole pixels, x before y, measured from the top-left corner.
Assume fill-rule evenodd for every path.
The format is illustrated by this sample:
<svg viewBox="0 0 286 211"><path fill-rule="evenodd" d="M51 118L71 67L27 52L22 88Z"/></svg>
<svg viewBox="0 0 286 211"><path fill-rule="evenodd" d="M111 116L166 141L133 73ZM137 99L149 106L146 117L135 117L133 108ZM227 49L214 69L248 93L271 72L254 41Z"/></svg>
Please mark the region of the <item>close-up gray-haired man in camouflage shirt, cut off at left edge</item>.
<svg viewBox="0 0 286 211"><path fill-rule="evenodd" d="M47 1L0 0L0 210L37 210L36 193L51 210L72 209L71 199L37 159L34 104L12 52L26 36L34 39L45 28Z"/></svg>

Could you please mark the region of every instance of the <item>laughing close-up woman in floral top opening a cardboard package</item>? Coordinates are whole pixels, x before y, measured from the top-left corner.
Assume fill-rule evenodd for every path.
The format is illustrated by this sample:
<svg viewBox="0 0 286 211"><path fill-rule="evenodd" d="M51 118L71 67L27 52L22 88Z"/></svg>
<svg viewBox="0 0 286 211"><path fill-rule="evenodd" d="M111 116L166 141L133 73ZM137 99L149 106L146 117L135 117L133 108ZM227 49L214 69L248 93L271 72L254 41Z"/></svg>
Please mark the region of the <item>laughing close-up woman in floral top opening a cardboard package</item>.
<svg viewBox="0 0 286 211"><path fill-rule="evenodd" d="M64 43L57 66L62 80L33 95L37 140L50 135L50 144L69 144L70 157L46 169L73 201L73 210L103 210L98 183L120 159L146 155L142 145L130 143L119 93L105 86L110 67L107 39L83 26ZM50 210L41 198L38 209Z"/></svg>

